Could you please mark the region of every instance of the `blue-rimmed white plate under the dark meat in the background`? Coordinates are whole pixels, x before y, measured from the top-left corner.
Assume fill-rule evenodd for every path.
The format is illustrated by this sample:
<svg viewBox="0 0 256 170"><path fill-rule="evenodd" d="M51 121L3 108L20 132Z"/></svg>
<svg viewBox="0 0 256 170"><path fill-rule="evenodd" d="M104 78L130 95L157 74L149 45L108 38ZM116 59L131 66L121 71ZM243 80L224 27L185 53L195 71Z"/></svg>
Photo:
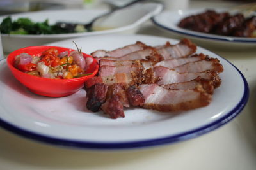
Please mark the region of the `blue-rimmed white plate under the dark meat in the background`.
<svg viewBox="0 0 256 170"><path fill-rule="evenodd" d="M182 18L204 12L206 9L164 11L152 18L157 27L170 32L175 36L190 38L201 46L214 46L218 48L253 48L256 47L256 38L239 38L219 36L202 32L190 31L177 26ZM225 11L224 9L215 9Z"/></svg>

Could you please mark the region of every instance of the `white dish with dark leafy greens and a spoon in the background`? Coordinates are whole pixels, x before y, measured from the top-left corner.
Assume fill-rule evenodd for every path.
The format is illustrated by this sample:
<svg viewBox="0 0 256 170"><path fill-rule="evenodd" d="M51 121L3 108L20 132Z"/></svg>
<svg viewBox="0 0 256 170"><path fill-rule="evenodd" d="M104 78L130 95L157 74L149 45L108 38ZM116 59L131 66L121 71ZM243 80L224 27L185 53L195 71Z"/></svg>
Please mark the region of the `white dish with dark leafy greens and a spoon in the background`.
<svg viewBox="0 0 256 170"><path fill-rule="evenodd" d="M134 33L139 26L147 21L150 17L161 12L163 9L162 4L159 3L136 3L122 10L117 10L111 15L101 18L95 22L98 27L111 28L102 31L72 33L72 34L48 34L48 35L13 35L13 34L1 34L3 41L4 52L12 52L13 50L26 47L42 45L45 43L51 43L54 41L61 41L68 38L77 38L81 36L94 36L99 34L111 34L116 32ZM99 16L102 13L106 13L106 10L48 10L48 11L36 11L30 13L20 13L11 15L13 20L20 17L28 17L34 22L43 22L45 19L49 19L49 24L55 24L56 22L77 22L88 23L93 18ZM1 16L0 22L7 16Z"/></svg>

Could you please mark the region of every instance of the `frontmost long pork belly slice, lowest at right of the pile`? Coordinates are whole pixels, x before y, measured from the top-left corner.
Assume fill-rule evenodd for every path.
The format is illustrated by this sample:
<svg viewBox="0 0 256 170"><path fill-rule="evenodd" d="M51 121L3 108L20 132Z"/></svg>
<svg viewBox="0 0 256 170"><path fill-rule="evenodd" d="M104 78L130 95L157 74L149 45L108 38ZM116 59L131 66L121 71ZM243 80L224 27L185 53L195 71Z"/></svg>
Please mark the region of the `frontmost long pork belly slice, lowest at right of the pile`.
<svg viewBox="0 0 256 170"><path fill-rule="evenodd" d="M158 111L182 111L207 106L211 101L201 87L194 90L169 90L156 84L140 85L139 89L145 97L143 108Z"/></svg>

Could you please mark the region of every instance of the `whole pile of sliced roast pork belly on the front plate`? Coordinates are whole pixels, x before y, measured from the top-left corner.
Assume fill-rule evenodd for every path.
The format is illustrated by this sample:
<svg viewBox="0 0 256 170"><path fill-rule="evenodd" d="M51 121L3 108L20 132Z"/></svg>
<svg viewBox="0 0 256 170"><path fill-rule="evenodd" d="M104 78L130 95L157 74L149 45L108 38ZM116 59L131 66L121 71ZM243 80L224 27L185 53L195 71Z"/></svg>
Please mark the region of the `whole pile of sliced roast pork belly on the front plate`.
<svg viewBox="0 0 256 170"><path fill-rule="evenodd" d="M218 59L195 52L189 39L155 47L138 41L93 52L100 68L98 76L85 83L88 110L118 118L125 117L124 107L131 106L157 111L207 106L221 84L218 73L223 66Z"/></svg>

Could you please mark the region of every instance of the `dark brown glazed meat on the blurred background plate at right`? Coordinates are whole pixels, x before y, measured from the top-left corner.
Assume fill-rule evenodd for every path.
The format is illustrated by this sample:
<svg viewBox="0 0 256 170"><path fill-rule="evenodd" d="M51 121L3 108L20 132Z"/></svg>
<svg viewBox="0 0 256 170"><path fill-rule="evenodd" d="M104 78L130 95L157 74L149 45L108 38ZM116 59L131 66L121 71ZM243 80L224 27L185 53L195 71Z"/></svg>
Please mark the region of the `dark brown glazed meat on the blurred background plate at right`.
<svg viewBox="0 0 256 170"><path fill-rule="evenodd" d="M256 30L256 16L244 18L241 13L217 13L207 10L180 20L179 27L197 32L223 36L253 37Z"/></svg>

